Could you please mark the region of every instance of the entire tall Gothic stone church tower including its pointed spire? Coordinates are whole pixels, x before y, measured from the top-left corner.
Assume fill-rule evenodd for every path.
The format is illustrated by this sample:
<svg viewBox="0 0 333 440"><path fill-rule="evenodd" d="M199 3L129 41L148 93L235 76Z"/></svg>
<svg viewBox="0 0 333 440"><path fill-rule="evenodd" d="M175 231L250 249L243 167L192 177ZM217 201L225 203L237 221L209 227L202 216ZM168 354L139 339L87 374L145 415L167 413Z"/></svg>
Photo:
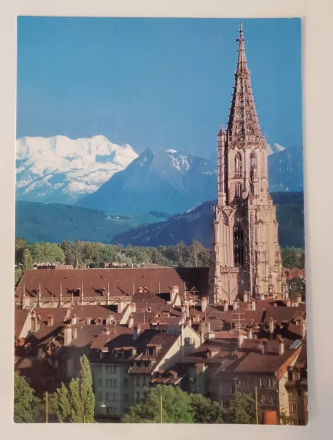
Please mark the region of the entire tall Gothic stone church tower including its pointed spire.
<svg viewBox="0 0 333 440"><path fill-rule="evenodd" d="M217 135L210 303L249 297L285 298L286 279L277 238L276 208L268 192L267 141L261 135L244 34L239 26L235 86L228 127Z"/></svg>

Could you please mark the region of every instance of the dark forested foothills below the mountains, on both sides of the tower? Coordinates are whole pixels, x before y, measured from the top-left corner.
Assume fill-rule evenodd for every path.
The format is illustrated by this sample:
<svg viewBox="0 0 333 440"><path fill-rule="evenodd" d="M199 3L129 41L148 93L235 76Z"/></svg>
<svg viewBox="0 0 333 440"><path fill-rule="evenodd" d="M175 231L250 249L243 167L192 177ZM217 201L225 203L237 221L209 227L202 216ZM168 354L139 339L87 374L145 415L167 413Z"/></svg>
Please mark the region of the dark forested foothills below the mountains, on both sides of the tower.
<svg viewBox="0 0 333 440"><path fill-rule="evenodd" d="M281 246L302 248L303 193L279 192L272 193L272 197L277 203ZM16 236L30 242L80 239L142 246L174 245L180 240L190 244L197 240L209 248L214 204L215 201L207 201L190 212L169 216L164 212L106 214L61 203L17 201Z"/></svg>

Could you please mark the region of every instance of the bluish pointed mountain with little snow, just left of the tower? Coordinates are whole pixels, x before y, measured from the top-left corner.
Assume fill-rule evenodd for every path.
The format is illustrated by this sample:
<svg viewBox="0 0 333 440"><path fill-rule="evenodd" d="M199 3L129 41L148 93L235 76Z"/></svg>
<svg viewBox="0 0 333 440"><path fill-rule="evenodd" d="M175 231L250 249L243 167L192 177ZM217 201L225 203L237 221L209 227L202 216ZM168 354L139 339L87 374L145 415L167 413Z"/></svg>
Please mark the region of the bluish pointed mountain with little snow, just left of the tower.
<svg viewBox="0 0 333 440"><path fill-rule="evenodd" d="M184 212L215 197L215 164L175 150L147 148L79 206L107 212Z"/></svg>

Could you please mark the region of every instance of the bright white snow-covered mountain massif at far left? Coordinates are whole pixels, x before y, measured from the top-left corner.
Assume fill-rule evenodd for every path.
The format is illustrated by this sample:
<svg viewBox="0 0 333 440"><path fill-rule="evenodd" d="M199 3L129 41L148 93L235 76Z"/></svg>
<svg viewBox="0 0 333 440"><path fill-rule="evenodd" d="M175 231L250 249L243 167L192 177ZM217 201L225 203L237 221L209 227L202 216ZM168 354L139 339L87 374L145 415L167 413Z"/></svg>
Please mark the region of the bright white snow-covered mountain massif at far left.
<svg viewBox="0 0 333 440"><path fill-rule="evenodd" d="M74 203L95 192L138 154L103 135L22 137L16 144L17 199Z"/></svg>

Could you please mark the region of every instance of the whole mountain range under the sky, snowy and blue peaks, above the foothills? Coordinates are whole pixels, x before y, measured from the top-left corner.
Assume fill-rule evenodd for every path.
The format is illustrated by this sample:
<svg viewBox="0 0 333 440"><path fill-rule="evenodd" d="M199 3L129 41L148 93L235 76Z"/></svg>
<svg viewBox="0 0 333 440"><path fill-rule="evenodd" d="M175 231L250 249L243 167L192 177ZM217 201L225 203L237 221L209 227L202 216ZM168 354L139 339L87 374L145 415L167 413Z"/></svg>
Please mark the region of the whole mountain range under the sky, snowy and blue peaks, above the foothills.
<svg viewBox="0 0 333 440"><path fill-rule="evenodd" d="M270 191L303 190L303 149L268 144ZM215 153L216 155L216 153ZM17 200L105 212L192 210L217 192L216 160L147 148L138 155L102 135L17 141Z"/></svg>

